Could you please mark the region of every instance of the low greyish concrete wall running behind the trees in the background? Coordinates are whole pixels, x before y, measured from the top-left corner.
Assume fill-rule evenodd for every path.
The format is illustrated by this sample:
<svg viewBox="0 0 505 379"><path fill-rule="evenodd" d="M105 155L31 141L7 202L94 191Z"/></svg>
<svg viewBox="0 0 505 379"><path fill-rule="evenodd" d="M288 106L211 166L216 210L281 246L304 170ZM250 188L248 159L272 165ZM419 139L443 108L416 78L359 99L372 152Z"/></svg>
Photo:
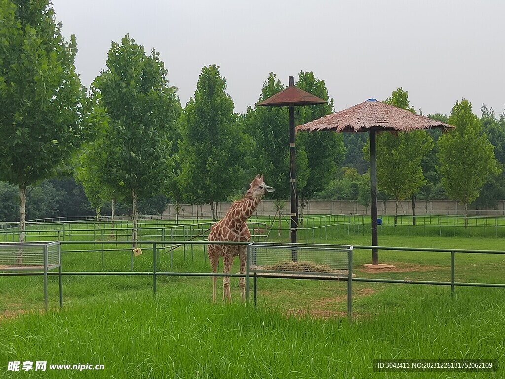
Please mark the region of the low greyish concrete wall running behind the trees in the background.
<svg viewBox="0 0 505 379"><path fill-rule="evenodd" d="M230 203L219 204L219 215L223 216L230 208ZM289 201L285 203L286 208L283 210L284 214L290 213ZM377 203L377 211L379 215L392 215L394 214L394 201ZM196 218L198 217L211 218L211 208L205 204L201 206L196 205L182 205L182 210L179 213L180 218ZM275 214L274 202L271 200L262 200L257 213L259 215L273 215ZM306 214L370 214L370 207L365 207L352 202L345 201L311 201L304 209ZM398 214L412 215L412 203L410 201L400 202L398 204ZM418 201L416 204L416 214L443 214L443 215L462 215L464 214L463 205L458 204L456 201L448 200L430 200L428 202ZM483 209L483 210L468 210L469 215L485 215L485 216L504 216L505 215L505 200L498 202L496 209ZM175 210L173 205L169 205L163 213L165 217L175 218Z"/></svg>

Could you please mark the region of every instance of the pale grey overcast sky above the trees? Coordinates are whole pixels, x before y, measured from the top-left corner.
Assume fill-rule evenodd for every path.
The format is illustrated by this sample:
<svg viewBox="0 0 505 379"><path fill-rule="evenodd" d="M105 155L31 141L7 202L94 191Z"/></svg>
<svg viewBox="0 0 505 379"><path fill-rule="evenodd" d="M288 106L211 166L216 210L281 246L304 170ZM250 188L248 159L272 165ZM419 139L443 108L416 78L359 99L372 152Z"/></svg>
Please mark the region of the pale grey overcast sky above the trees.
<svg viewBox="0 0 505 379"><path fill-rule="evenodd" d="M273 71L287 85L300 70L325 80L335 110L397 87L424 114L458 100L505 104L502 0L54 0L86 86L105 68L111 41L130 33L160 53L184 106L201 68L218 64L235 111L260 97Z"/></svg>

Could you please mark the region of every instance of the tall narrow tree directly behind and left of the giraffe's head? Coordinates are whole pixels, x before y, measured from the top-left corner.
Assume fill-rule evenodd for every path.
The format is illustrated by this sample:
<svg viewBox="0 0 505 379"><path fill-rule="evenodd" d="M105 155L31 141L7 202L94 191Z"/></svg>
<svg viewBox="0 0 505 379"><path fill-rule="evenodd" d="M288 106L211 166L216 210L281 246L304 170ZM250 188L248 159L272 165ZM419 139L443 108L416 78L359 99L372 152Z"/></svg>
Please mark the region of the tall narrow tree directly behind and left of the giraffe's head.
<svg viewBox="0 0 505 379"><path fill-rule="evenodd" d="M211 206L213 219L243 180L244 138L233 109L219 66L205 66L181 118L179 182L189 203Z"/></svg>

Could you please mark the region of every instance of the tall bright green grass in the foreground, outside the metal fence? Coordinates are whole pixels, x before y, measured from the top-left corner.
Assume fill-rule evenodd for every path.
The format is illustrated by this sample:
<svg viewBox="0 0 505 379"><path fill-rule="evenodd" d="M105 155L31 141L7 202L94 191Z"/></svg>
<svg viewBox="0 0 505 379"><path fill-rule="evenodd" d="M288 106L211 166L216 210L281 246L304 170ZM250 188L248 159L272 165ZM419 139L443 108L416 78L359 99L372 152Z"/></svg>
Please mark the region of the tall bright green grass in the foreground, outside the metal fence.
<svg viewBox="0 0 505 379"><path fill-rule="evenodd" d="M104 296L48 315L4 321L0 362L104 364L92 377L341 378L501 377L500 373L374 372L374 359L498 359L503 357L505 306L497 291L411 287L377 297L387 310L354 320L289 316L285 309L213 306L191 286L153 299L143 291ZM388 302L401 307L390 307ZM70 371L47 371L62 377ZM83 373L75 373L80 377ZM38 377L38 376L37 376Z"/></svg>

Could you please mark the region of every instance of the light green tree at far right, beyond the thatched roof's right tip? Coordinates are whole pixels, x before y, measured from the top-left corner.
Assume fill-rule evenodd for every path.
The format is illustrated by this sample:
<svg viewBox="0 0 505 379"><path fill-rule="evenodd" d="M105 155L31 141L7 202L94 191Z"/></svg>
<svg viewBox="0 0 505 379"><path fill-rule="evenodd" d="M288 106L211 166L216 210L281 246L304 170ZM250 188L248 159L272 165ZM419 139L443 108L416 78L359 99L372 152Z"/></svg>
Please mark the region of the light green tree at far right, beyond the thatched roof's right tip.
<svg viewBox="0 0 505 379"><path fill-rule="evenodd" d="M472 112L472 103L465 99L456 102L449 124L456 126L456 130L438 139L438 168L447 194L465 207L466 226L468 204L479 197L484 183L500 169L494 158L493 145Z"/></svg>

